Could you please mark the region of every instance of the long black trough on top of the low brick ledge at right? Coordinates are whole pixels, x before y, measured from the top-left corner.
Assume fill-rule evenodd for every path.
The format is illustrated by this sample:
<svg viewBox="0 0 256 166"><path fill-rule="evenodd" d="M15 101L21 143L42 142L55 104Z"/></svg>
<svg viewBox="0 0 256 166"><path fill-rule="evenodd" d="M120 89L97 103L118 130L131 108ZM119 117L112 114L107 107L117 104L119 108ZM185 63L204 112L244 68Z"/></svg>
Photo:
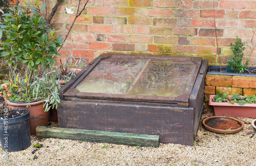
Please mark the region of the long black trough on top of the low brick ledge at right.
<svg viewBox="0 0 256 166"><path fill-rule="evenodd" d="M248 69L249 69L249 71L252 71L252 72L248 73L248 71L245 71L245 73L236 73L229 66L221 66L221 71L220 71L220 66L210 65L210 66L208 66L206 74L256 77L256 71L253 71L253 70L256 70L256 67L249 67Z"/></svg>

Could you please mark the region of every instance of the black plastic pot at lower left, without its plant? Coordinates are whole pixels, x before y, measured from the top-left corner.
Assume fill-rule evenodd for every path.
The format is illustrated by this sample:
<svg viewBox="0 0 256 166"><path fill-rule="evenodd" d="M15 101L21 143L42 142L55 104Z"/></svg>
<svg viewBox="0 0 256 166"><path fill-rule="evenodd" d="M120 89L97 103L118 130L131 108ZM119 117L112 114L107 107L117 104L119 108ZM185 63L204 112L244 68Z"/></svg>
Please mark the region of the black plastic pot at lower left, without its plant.
<svg viewBox="0 0 256 166"><path fill-rule="evenodd" d="M0 119L0 140L4 151L20 151L31 145L29 117L28 110L20 117Z"/></svg>

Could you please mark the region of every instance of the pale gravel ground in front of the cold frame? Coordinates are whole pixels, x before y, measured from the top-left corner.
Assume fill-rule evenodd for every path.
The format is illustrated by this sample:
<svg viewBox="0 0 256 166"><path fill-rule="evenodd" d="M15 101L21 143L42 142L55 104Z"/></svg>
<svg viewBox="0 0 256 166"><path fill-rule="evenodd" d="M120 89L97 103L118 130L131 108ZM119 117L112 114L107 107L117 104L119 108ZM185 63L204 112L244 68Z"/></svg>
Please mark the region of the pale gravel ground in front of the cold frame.
<svg viewBox="0 0 256 166"><path fill-rule="evenodd" d="M204 113L202 119L212 114ZM135 147L31 136L28 149L8 153L8 161L2 156L0 165L256 165L252 118L238 119L245 124L235 134L217 134L200 126L194 146ZM42 147L34 148L37 143Z"/></svg>

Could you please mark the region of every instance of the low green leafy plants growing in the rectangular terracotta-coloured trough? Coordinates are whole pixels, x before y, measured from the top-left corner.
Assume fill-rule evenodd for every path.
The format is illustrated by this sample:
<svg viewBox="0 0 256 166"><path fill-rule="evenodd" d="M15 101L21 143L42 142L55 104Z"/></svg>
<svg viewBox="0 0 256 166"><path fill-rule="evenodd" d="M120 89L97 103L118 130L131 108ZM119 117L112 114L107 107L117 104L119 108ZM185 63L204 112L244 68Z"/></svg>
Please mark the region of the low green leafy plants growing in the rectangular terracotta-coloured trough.
<svg viewBox="0 0 256 166"><path fill-rule="evenodd" d="M222 95L220 93L217 93L215 95L215 102L227 102L227 103L238 103L239 105L244 105L246 103L256 103L256 96L255 95L244 95L240 96L238 94L233 94L233 96L228 98L228 95L223 93Z"/></svg>

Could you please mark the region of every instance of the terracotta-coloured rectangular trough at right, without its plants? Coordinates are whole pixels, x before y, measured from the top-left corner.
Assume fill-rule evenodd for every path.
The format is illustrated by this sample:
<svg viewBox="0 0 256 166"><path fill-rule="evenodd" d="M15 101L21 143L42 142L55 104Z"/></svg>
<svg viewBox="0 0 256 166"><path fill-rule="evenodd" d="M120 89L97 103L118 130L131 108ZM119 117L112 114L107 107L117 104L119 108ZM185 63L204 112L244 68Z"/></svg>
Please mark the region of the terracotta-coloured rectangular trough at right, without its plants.
<svg viewBox="0 0 256 166"><path fill-rule="evenodd" d="M214 102L215 95L210 95L209 105L214 106L215 116L256 118L256 104ZM232 96L228 96L230 99Z"/></svg>

